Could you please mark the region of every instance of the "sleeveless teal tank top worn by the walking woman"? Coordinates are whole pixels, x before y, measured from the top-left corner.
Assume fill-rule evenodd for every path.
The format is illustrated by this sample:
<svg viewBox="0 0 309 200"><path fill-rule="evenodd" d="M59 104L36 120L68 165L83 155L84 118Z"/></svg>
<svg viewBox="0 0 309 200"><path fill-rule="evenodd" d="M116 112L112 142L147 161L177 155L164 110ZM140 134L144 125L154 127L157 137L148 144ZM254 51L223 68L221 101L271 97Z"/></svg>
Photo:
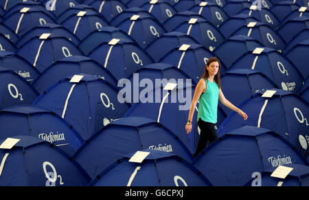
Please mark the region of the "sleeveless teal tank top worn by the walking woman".
<svg viewBox="0 0 309 200"><path fill-rule="evenodd" d="M208 79L205 82L207 84L206 92L198 99L197 121L201 118L205 122L217 123L219 87L216 82L211 83Z"/></svg>

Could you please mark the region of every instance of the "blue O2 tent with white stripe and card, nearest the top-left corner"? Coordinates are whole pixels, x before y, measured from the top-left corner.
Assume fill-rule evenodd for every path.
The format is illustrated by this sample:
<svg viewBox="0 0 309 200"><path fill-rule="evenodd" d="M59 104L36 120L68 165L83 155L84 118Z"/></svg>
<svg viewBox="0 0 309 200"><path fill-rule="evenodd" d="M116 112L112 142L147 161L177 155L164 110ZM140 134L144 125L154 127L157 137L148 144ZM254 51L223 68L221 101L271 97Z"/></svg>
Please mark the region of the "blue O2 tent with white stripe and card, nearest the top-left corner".
<svg viewBox="0 0 309 200"><path fill-rule="evenodd" d="M3 24L10 27L18 36L23 36L23 34L37 25L47 23L55 23L55 21L49 15L45 14L45 12L31 7L16 10L3 21Z"/></svg>

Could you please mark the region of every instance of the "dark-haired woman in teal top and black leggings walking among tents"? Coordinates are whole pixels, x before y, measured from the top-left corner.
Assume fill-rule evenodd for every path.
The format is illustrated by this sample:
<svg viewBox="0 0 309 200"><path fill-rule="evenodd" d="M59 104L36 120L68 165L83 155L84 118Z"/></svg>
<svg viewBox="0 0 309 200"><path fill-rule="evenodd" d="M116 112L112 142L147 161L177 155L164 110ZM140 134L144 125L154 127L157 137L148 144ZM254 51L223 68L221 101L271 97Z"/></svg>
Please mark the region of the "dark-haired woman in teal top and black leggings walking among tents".
<svg viewBox="0 0 309 200"><path fill-rule="evenodd" d="M200 139L198 140L198 147L194 153L194 158L196 158L198 153L201 153L207 145L218 138L216 123L219 99L227 108L238 112L244 120L247 120L248 118L246 113L242 112L242 110L225 99L220 84L220 68L221 66L218 58L210 58L206 64L203 77L200 82L198 82L194 92L189 118L187 125L185 125L187 134L189 134L192 130L192 118L196 108L196 103L199 101L197 123L198 127L201 129L201 134Z"/></svg>

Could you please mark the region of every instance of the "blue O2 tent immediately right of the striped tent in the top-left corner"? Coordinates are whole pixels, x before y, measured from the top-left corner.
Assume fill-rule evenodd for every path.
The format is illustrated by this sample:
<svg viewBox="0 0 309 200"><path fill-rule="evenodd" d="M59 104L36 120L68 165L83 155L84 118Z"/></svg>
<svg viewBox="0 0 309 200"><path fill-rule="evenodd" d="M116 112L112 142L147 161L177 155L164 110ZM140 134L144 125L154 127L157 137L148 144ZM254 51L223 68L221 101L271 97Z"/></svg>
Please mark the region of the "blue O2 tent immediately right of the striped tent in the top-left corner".
<svg viewBox="0 0 309 200"><path fill-rule="evenodd" d="M62 22L61 25L69 29L69 31L76 35L80 40L83 40L96 29L108 26L108 23L106 23L103 16L98 12L89 11L84 13L81 11L77 14L71 14L71 16Z"/></svg>

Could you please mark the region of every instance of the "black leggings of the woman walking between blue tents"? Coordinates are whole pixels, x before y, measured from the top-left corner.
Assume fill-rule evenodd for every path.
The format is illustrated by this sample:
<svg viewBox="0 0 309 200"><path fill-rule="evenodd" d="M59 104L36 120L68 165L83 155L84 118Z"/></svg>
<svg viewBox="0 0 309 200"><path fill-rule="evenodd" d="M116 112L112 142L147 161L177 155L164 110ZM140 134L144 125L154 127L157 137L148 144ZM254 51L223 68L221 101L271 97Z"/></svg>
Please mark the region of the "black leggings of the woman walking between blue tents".
<svg viewBox="0 0 309 200"><path fill-rule="evenodd" d="M198 156L211 142L214 142L218 138L216 124L198 120L198 127L201 129L200 139L198 140L198 147L194 153L194 158Z"/></svg>

